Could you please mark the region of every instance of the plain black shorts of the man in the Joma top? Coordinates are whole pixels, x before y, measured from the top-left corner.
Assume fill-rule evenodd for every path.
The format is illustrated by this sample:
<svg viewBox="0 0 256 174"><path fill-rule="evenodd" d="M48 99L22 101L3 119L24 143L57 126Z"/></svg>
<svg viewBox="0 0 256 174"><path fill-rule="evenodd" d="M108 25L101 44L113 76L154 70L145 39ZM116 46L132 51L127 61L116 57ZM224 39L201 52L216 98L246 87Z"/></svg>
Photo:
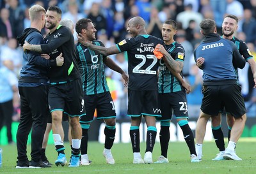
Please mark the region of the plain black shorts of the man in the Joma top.
<svg viewBox="0 0 256 174"><path fill-rule="evenodd" d="M208 115L218 115L225 107L233 117L239 118L246 113L244 98L239 85L204 86L201 110Z"/></svg>

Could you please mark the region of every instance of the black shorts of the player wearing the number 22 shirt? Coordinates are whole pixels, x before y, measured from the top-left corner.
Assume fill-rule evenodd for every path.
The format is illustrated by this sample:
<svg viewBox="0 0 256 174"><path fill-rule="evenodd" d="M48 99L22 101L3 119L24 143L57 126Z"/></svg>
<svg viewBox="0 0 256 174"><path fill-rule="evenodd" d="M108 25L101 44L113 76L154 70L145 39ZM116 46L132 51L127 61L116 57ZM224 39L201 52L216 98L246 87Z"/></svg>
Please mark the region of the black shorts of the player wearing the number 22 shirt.
<svg viewBox="0 0 256 174"><path fill-rule="evenodd" d="M161 117L157 91L132 91L128 89L128 116L148 115Z"/></svg>

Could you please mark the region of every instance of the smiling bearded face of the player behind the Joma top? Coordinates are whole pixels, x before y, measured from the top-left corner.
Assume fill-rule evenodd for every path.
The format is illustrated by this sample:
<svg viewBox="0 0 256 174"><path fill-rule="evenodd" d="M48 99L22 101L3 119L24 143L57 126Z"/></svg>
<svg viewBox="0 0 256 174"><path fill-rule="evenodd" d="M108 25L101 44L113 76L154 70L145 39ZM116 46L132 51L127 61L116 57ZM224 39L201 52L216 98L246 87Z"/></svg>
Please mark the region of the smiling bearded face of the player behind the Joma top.
<svg viewBox="0 0 256 174"><path fill-rule="evenodd" d="M234 18L226 17L222 23L222 33L225 37L232 37L237 30L237 22Z"/></svg>

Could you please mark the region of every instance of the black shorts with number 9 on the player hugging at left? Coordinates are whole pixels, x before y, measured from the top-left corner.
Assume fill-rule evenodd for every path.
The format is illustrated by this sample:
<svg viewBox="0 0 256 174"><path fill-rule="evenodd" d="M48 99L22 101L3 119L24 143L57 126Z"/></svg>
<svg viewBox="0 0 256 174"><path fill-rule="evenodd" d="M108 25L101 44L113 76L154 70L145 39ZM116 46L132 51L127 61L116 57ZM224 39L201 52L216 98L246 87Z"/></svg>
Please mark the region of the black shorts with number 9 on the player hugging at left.
<svg viewBox="0 0 256 174"><path fill-rule="evenodd" d="M81 79L49 86L49 107L51 112L62 110L69 117L85 115Z"/></svg>

